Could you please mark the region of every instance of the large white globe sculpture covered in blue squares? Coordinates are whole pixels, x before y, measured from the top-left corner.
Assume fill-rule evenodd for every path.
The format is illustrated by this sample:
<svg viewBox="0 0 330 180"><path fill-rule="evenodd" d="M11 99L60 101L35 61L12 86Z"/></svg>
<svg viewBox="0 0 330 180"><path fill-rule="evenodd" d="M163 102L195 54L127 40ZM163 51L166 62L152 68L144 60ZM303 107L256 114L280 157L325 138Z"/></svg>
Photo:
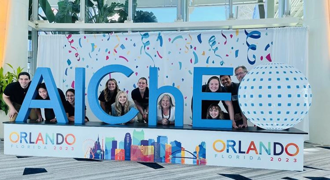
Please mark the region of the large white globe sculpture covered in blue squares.
<svg viewBox="0 0 330 180"><path fill-rule="evenodd" d="M245 75L238 102L256 126L284 130L298 124L308 113L312 90L305 75L293 66L265 63Z"/></svg>

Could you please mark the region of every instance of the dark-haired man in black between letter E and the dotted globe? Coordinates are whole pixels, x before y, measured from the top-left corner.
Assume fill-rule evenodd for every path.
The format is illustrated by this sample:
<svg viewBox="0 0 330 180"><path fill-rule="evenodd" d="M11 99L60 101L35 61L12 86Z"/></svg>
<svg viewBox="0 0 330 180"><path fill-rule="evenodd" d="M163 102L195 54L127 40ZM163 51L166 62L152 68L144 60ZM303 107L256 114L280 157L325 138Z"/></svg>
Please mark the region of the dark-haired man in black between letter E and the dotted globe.
<svg viewBox="0 0 330 180"><path fill-rule="evenodd" d="M221 84L223 85L222 92L231 93L231 101L233 103L236 125L240 128L244 128L244 127L247 128L248 127L247 119L242 113L240 105L238 104L237 94L238 94L239 83L231 82L230 75L220 75L220 81ZM228 112L227 105L223 103L223 106Z"/></svg>

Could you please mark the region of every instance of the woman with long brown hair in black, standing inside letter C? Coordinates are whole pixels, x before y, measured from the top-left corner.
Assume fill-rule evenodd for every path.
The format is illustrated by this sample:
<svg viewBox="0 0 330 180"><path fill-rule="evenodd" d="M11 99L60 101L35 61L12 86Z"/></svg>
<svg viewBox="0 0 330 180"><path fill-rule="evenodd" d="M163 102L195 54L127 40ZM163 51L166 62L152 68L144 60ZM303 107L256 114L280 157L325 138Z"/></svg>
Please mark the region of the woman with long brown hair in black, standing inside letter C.
<svg viewBox="0 0 330 180"><path fill-rule="evenodd" d="M110 78L99 96L100 105L104 112L111 115L111 105L115 103L117 93L120 91L116 79Z"/></svg>

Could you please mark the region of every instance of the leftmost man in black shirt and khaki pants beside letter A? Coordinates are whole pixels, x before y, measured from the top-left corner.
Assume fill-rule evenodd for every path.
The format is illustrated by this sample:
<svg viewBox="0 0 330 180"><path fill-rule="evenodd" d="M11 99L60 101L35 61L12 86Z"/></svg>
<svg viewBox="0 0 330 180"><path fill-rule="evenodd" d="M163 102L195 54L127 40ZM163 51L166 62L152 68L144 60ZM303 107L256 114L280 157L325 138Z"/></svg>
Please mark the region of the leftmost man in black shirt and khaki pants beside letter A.
<svg viewBox="0 0 330 180"><path fill-rule="evenodd" d="M9 121L16 120L18 111L23 104L30 84L31 79L29 73L21 72L18 74L18 82L12 82L6 86L2 99L9 106ZM37 120L42 118L41 115L37 115L36 110L37 109L31 109L29 116L30 119Z"/></svg>

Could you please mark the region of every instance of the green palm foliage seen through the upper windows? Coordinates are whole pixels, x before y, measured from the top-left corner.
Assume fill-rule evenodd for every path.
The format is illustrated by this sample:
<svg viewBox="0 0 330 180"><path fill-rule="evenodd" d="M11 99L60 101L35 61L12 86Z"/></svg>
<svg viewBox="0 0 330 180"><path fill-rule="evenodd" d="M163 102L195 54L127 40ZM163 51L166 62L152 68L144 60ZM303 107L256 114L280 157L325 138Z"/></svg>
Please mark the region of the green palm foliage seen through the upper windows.
<svg viewBox="0 0 330 180"><path fill-rule="evenodd" d="M94 4L94 2L96 2ZM79 20L80 0L59 1L58 12L54 15L48 0L39 0L39 7L42 8L46 17L38 14L38 19L48 20L49 23L75 23ZM85 22L86 23L123 23L128 17L128 0L125 4L112 2L110 6L104 4L104 0L85 0ZM157 22L157 17L148 11L136 11L137 0L133 0L133 22ZM29 0L29 17L32 15L32 0ZM111 17L118 15L118 19Z"/></svg>

